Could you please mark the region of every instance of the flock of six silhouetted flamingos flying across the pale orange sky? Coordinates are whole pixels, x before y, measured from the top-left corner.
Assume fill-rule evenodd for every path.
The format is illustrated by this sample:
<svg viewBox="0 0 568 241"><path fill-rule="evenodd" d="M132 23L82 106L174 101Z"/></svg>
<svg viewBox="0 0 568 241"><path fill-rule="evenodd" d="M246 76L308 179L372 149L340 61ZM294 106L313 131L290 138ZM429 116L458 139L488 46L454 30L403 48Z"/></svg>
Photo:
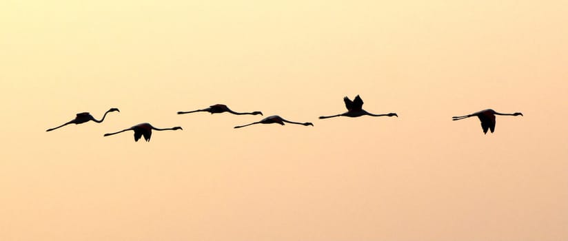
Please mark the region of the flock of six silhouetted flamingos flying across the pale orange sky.
<svg viewBox="0 0 568 241"><path fill-rule="evenodd" d="M345 112L343 114L336 114L334 116L320 116L319 118L325 119L325 118L332 118L332 117L338 117L338 116L348 116L348 117L396 116L396 117L398 117L398 115L396 113L371 114L369 112L366 112L365 109L363 109L363 100L358 95L355 96L353 101L350 100L349 98L347 98L347 96L345 96L343 98L343 101L345 102L345 107L347 107L347 112ZM91 114L89 114L89 112L82 112L82 113L77 114L77 116L73 120L69 121L68 123L60 125L58 127L50 128L46 132L51 132L54 129L58 129L60 127L63 127L65 125L69 125L69 124L76 124L77 125L77 124L85 123L85 122L88 122L88 121L94 121L96 123L101 123L105 120L105 116L109 112L120 112L120 111L119 111L119 109L116 109L116 108L109 109L107 112L105 112L105 114L103 115L103 118L101 118L101 121L92 117ZM231 114L236 114L236 115L243 115L243 114L257 115L257 114L260 114L262 116L262 112L241 112L241 113L240 112L234 112L231 109L229 109L229 107L227 107L227 105L221 105L221 104L211 105L210 107L207 107L205 109L197 109L197 110L190 111L190 112L177 112L177 114L189 114L189 113L194 113L194 112L210 112L211 114L229 112ZM493 133L495 131L495 115L523 116L523 114L521 114L520 112L515 112L513 114L503 114L503 113L498 113L498 112L494 111L493 109L485 109L485 110L482 110L482 111L479 111L479 112L475 112L474 114L468 114L468 115L465 115L465 116L454 116L454 117L452 117L452 121L458 121L458 120L461 120L461 119L464 119L464 118L477 116L479 118L479 121L481 121L481 127L483 128L483 133L487 134L488 130L491 130L491 133ZM247 125L238 125L234 128L241 128L241 127L246 127L246 126L254 125L254 124L272 124L272 123L278 123L280 125L284 125L284 123L291 123L291 124L297 124L297 125L314 126L314 124L309 123L309 122L299 123L299 122L294 122L294 121L287 121L280 116L268 116L267 118L263 118L261 121L257 121L257 122L250 123L250 124L247 124ZM138 125L134 125L133 127L128 128L128 129L123 129L119 132L107 133L104 136L112 136L114 134L119 134L121 132L126 132L126 131L132 130L132 131L134 131L134 141L138 141L142 136L144 136L144 140L150 141L150 136L152 136L152 129L154 129L156 131L165 131L165 130L181 129L181 127L172 127L172 128L161 129L161 128L156 128L156 127L150 125L150 123L140 123Z"/></svg>

